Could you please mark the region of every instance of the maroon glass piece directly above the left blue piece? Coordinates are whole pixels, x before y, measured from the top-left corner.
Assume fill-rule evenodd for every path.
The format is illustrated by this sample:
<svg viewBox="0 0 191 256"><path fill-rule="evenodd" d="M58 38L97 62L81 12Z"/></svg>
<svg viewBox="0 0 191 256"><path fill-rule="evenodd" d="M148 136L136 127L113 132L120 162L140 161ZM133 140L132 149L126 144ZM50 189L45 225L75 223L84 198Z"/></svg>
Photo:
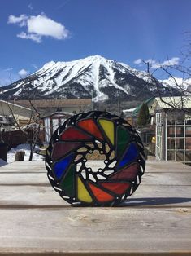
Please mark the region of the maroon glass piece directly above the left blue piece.
<svg viewBox="0 0 191 256"><path fill-rule="evenodd" d="M76 150L80 148L81 143L67 143L67 142L58 142L54 144L54 148L52 151L52 160L59 160L61 157L64 157L68 152Z"/></svg>

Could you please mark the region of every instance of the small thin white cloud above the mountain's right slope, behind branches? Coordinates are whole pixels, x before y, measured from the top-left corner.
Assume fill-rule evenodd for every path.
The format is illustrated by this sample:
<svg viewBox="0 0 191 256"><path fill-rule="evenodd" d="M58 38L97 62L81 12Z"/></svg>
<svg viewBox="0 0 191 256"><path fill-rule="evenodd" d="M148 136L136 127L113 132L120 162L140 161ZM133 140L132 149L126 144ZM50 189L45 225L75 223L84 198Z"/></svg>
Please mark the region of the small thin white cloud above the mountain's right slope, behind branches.
<svg viewBox="0 0 191 256"><path fill-rule="evenodd" d="M158 62L156 60L152 60L152 59L148 59L148 60L137 59L137 60L134 61L134 64L137 64L137 65L141 66L141 64L143 62L145 62L145 63L149 63L150 68L154 69L154 68L161 68L161 67L178 65L179 60L180 60L179 58L173 57L173 58L171 58L171 60L165 60L162 63L160 63L160 62Z"/></svg>

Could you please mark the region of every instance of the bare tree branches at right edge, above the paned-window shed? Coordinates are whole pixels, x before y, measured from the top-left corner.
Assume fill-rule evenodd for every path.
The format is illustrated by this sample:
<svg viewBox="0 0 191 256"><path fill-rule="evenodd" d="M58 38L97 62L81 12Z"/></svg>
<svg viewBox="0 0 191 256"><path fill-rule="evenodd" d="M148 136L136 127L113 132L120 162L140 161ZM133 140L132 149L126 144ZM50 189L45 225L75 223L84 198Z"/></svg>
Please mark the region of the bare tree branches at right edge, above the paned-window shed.
<svg viewBox="0 0 191 256"><path fill-rule="evenodd" d="M172 109L184 109L184 105L187 101L185 95L190 95L189 86L191 85L189 83L189 78L191 77L191 68L188 65L191 60L190 54L191 51L189 51L187 55L182 54L180 64L171 64L171 61L167 58L163 64L158 63L157 67L154 67L150 60L142 60L142 63L146 66L146 72L150 75L152 83L156 86L158 97L164 104ZM184 65L185 62L187 66ZM175 71L180 74L179 79L174 75ZM158 73L163 73L165 77L170 79L171 85L166 83L165 89L163 89L164 84L163 82L158 81ZM164 90L166 90L166 95L169 96L167 99L163 98ZM175 96L179 96L180 100L177 101Z"/></svg>

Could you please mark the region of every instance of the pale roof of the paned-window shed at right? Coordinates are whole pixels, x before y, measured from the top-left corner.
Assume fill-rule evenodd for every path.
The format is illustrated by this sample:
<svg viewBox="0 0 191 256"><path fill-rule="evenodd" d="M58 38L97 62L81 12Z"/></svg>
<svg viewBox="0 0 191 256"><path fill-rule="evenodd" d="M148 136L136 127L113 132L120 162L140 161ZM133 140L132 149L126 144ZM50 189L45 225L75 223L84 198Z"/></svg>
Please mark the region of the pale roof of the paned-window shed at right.
<svg viewBox="0 0 191 256"><path fill-rule="evenodd" d="M191 108L191 96L155 98L157 108Z"/></svg>

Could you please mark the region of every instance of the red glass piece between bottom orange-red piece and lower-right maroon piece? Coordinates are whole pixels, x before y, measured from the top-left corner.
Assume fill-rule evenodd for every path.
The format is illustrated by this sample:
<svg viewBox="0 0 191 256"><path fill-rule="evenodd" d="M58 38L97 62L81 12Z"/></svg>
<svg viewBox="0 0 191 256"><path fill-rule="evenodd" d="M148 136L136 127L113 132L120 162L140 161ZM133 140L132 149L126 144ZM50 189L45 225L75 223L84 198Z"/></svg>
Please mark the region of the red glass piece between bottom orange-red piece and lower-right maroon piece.
<svg viewBox="0 0 191 256"><path fill-rule="evenodd" d="M117 195L123 194L128 188L131 188L131 183L114 183L114 182L102 182L100 183L103 188L115 192Z"/></svg>

